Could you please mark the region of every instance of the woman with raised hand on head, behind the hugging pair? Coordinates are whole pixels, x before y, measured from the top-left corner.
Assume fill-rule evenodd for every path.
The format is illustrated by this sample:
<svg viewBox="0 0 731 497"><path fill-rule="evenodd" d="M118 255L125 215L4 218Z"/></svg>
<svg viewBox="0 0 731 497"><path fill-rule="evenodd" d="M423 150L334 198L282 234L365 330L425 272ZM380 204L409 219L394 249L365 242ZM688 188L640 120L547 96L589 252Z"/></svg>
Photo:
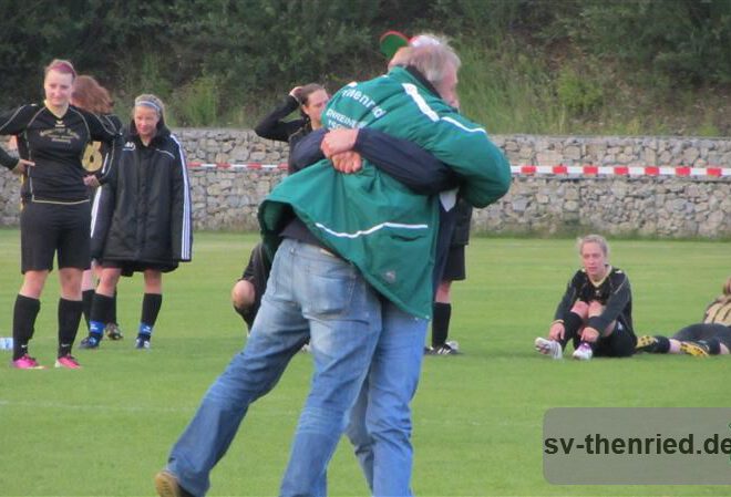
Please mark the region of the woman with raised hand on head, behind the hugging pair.
<svg viewBox="0 0 731 497"><path fill-rule="evenodd" d="M267 139L287 142L289 144L289 173L292 170L292 149L297 143L313 130L322 127L322 111L330 100L328 92L317 83L305 86L295 86L285 102L261 120L254 132ZM301 117L285 121L289 114L299 107ZM249 329L261 303L261 296L267 289L267 279L271 261L267 259L261 244L251 250L249 262L244 269L241 278L231 289L234 309L244 319Z"/></svg>

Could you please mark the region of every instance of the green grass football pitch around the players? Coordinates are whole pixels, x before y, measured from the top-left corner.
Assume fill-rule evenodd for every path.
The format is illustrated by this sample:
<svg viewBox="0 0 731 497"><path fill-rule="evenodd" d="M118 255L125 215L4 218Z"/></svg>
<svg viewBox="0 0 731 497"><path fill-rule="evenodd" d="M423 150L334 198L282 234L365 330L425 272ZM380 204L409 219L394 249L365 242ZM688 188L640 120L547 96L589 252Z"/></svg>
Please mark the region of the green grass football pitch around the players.
<svg viewBox="0 0 731 497"><path fill-rule="evenodd" d="M20 287L19 236L0 230L0 335L9 335ZM194 262L165 279L153 349L135 351L142 282L124 279L126 338L78 351L80 371L0 367L0 495L153 495L153 475L203 393L245 341L228 291L253 235L197 234ZM697 322L729 276L728 242L615 241L640 333ZM469 280L455 283L452 338L461 356L425 358L414 401L413 488L423 496L698 496L723 486L554 486L543 477L542 424L556 406L731 406L731 360L640 355L588 363L533 350L578 265L568 239L476 238ZM55 273L42 299L32 354L52 364ZM2 361L10 353L0 351ZM212 496L275 495L310 358L298 354L281 383L249 411L213 473ZM367 495L343 441L330 465L330 495Z"/></svg>

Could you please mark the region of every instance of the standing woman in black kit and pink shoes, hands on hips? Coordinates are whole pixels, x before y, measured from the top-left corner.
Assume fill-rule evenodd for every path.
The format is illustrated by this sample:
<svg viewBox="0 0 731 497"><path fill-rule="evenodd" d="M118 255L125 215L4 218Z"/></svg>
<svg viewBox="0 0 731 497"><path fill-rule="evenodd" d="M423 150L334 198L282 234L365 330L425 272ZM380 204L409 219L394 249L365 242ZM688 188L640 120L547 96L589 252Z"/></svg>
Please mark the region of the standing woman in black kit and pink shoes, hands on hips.
<svg viewBox="0 0 731 497"><path fill-rule="evenodd" d="M20 215L23 284L13 309L13 358L18 369L42 369L28 353L40 311L40 296L58 255L59 350L56 367L78 369L71 355L81 320L81 278L90 263L90 200L81 158L92 141L121 146L120 134L96 115L70 104L76 73L54 60L45 68L43 104L0 114L0 134L18 135L21 157L35 163L23 170Z"/></svg>

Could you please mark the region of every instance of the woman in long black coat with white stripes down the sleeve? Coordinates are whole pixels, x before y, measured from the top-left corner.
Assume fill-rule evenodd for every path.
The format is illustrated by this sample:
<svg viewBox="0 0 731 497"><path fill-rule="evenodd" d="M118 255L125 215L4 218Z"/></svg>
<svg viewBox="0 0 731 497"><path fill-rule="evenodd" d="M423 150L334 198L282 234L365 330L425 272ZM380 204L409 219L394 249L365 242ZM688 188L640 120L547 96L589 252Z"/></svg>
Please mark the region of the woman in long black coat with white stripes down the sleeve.
<svg viewBox="0 0 731 497"><path fill-rule="evenodd" d="M102 278L91 311L86 349L96 349L110 321L121 276L144 275L144 297L135 348L150 349L163 302L163 273L192 259L192 213L185 154L165 125L165 107L155 95L135 99L120 163L103 178L100 196L109 222L92 237L101 259ZM103 197L111 198L104 203ZM103 239L101 239L103 237Z"/></svg>

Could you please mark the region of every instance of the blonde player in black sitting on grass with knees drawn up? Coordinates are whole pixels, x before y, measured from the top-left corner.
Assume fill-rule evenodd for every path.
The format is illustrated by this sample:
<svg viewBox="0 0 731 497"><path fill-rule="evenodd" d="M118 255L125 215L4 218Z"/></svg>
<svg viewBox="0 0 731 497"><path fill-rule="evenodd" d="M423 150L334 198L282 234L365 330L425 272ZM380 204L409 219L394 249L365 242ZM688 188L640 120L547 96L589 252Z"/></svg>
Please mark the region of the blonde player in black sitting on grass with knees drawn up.
<svg viewBox="0 0 731 497"><path fill-rule="evenodd" d="M588 235L578 240L583 268L568 282L556 309L548 339L538 336L535 348L554 359L563 358L569 340L574 359L624 358L635 352L632 294L621 269L608 263L604 237Z"/></svg>

